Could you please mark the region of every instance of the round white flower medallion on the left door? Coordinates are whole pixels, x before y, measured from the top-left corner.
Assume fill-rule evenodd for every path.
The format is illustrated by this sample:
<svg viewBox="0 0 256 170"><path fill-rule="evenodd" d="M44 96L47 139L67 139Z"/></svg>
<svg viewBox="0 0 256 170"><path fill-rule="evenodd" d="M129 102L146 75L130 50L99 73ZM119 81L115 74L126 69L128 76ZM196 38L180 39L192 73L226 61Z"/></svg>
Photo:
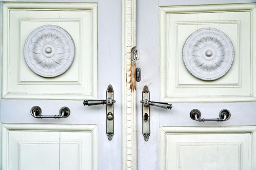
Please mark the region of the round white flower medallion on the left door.
<svg viewBox="0 0 256 170"><path fill-rule="evenodd" d="M24 57L29 68L42 77L66 72L75 58L75 44L63 28L43 25L27 37Z"/></svg>

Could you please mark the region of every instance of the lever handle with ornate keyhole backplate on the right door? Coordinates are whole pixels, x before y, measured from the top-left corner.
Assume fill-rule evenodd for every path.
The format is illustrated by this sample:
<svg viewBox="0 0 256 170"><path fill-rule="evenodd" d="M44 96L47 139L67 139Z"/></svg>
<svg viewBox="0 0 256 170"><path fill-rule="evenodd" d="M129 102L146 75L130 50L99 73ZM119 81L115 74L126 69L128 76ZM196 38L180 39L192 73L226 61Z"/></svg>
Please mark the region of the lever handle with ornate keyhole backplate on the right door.
<svg viewBox="0 0 256 170"><path fill-rule="evenodd" d="M150 92L148 86L145 85L142 91L142 135L144 140L148 141L150 136L150 106L156 106L164 109L172 109L172 104L167 102L150 101Z"/></svg>

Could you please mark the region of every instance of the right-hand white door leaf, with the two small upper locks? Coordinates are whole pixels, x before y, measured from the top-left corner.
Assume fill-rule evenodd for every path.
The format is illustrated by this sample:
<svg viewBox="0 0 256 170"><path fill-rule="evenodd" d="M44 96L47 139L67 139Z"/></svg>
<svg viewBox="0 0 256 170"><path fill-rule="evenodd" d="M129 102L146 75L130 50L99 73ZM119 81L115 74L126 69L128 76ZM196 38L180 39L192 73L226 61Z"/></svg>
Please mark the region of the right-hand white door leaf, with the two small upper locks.
<svg viewBox="0 0 256 170"><path fill-rule="evenodd" d="M137 82L138 170L256 169L256 3L232 4L238 2L255 1L137 1L139 60L135 62L141 69L141 81ZM182 52L194 52L190 50L195 47L182 51L187 38L203 28L220 30L234 46L233 65L223 77L213 81L193 76L182 58ZM205 39L201 43L208 43L210 50L214 48L216 39L204 36L197 35L190 45L196 46ZM201 49L195 50L199 51L197 57L208 55ZM200 62L193 55L190 57L189 62ZM171 110L151 106L148 141L142 136L139 103L144 85L149 87L151 101L173 104ZM199 122L190 118L192 109L199 109L204 119L218 118L222 109L228 109L231 118Z"/></svg>

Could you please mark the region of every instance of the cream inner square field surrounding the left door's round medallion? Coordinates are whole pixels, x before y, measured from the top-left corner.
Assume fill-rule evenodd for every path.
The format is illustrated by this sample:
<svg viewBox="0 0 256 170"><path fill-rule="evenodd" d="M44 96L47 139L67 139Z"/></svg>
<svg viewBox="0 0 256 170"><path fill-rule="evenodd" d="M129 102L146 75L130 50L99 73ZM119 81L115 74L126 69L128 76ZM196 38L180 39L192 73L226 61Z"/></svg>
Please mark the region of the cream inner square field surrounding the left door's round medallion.
<svg viewBox="0 0 256 170"><path fill-rule="evenodd" d="M38 11L33 11L35 14L38 13ZM15 15L15 13L14 13ZM20 47L24 47L25 45L25 41L28 37L28 35L35 30L36 28L42 26L42 25L58 25L59 27L63 28L64 30L66 30L72 37L72 39L74 40L74 42L79 42L80 41L80 37L79 37L79 33L81 33L80 30L80 25L81 25L81 20L76 20L76 19L59 19L56 21L48 21L48 20L42 20L40 18L33 18L33 19L27 19L27 18L19 18L19 28L20 28L20 32L19 32L19 46ZM72 27L70 27L70 25L72 25ZM81 44L77 44L76 43L76 50L79 50ZM72 66L70 67L70 69L65 72L64 74L56 77L55 79L49 79L47 80L47 78L43 78L41 76L38 76L36 73L34 73L33 71L31 71L31 69L27 66L27 63L25 61L25 58L23 56L23 48L19 49L19 68L18 68L18 72L20 73L18 76L19 78L19 84L26 84L26 83L44 83L44 82L66 82L66 81L70 81L70 82L77 82L79 84L80 82L80 77L79 75L81 74L81 70L79 70L79 65L81 64L81 62L79 62L79 60L81 58L75 59L74 62L72 63ZM79 54L79 51L76 52L76 56L75 57L81 57L81 55ZM64 76L65 75L65 76Z"/></svg>

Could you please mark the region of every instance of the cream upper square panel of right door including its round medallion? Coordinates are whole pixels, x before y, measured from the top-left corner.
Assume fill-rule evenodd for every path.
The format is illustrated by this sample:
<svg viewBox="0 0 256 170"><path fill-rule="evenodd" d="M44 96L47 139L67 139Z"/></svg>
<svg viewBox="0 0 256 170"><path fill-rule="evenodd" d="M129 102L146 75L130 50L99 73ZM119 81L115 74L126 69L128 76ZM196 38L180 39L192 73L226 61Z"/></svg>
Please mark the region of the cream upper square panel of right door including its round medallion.
<svg viewBox="0 0 256 170"><path fill-rule="evenodd" d="M255 15L255 4L159 7L160 99L255 101Z"/></svg>

